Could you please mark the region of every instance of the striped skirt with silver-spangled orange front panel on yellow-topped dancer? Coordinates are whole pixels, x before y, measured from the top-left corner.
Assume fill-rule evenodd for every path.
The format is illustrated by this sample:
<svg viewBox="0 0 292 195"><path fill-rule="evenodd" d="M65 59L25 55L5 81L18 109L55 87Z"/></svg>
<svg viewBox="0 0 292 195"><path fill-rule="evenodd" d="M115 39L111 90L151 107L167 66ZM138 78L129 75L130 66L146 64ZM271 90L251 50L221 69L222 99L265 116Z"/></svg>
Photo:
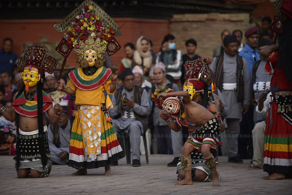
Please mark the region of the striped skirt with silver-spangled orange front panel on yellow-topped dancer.
<svg viewBox="0 0 292 195"><path fill-rule="evenodd" d="M81 105L72 125L68 165L74 168L106 167L123 158L104 104Z"/></svg>

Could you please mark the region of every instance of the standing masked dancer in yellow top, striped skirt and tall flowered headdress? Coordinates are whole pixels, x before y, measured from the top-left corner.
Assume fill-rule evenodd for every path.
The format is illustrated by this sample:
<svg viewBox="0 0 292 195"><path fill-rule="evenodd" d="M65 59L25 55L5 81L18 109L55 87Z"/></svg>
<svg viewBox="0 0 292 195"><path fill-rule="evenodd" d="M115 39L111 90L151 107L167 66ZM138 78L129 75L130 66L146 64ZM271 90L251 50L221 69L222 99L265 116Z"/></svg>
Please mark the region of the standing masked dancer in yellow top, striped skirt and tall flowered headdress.
<svg viewBox="0 0 292 195"><path fill-rule="evenodd" d="M97 16L97 13L100 14ZM86 175L87 169L100 167L105 167L105 175L112 175L109 164L125 155L107 113L107 108L113 108L112 101L109 96L105 99L104 94L104 91L107 94L116 92L118 71L115 67L108 70L103 64L106 52L112 55L120 48L114 39L119 26L93 1L84 1L64 20L73 21L69 23L72 25L63 26L61 21L54 26L59 32L68 28L57 51L62 53L65 49L64 56L67 56L73 46L79 63L79 67L69 73L67 87L60 81L55 83L55 89L75 95L78 106L72 125L68 165L77 169L72 175Z"/></svg>

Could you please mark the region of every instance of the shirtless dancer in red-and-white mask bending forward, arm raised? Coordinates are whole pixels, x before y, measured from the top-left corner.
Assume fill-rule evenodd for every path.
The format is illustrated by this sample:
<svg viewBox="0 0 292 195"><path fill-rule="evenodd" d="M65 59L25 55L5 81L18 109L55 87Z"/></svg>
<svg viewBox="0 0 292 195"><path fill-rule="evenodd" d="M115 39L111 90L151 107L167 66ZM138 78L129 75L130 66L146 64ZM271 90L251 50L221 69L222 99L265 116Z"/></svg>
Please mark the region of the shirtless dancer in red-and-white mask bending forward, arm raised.
<svg viewBox="0 0 292 195"><path fill-rule="evenodd" d="M182 97L180 97L182 96ZM191 152L201 151L205 158L205 164L211 170L213 176L213 187L220 186L217 172L217 159L213 157L210 151L217 150L217 135L220 132L220 123L213 113L198 103L191 101L190 94L187 91L173 92L170 88L156 89L152 94L153 101L158 104L157 107L165 111L178 123L174 124L174 131L180 130L180 125L188 126L189 122L199 126L199 129L190 134L182 148L181 163L185 172L185 179L177 182L175 185L192 185L192 159ZM161 115L167 115L164 111ZM171 118L168 116L166 122L170 123ZM180 125L178 125L180 124Z"/></svg>

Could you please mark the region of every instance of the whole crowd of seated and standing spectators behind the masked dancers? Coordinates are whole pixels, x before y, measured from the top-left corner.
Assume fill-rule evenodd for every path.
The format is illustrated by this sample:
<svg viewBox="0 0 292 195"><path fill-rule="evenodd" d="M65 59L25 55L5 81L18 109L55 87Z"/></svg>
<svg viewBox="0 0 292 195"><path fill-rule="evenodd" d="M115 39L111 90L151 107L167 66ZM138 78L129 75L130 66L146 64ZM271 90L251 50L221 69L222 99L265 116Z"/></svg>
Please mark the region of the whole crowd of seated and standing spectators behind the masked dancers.
<svg viewBox="0 0 292 195"><path fill-rule="evenodd" d="M232 33L227 29L223 30L221 44L214 47L213 63L210 65L215 80L218 66L230 67L224 70L222 86L216 83L222 92L220 102L225 101L229 111L224 120L226 131L220 136L223 146L219 149L219 155L228 156L232 163L253 159L249 166L251 169L263 166L264 121L268 108L266 103L262 106L265 99L261 99L258 106L253 106L251 100L258 99L270 89L271 78L264 71L266 59L258 51L274 42L275 34L269 28L271 23L271 18L265 17L262 19L262 29L253 27L245 33L237 29ZM159 117L160 110L152 102L151 94L156 88L166 86L174 91L182 90L185 82L183 65L186 61L193 61L201 56L196 53L199 45L195 37L189 37L185 42L186 54L176 49L176 39L172 34L164 37L158 53L152 50L150 38L141 36L135 44L129 42L124 46L125 57L121 59L120 65L116 65L120 74L117 92L110 96L114 108L109 109L109 115L113 118L118 137L122 134L129 136L133 166L140 166L140 154L147 152L173 155L173 161L167 165L173 167L178 163L178 154L186 138L182 131L172 131ZM5 38L0 50L0 102L8 109L11 109L15 93L23 85L15 66L18 56L11 51L12 46L13 40ZM237 56L243 58L239 63ZM112 65L110 56L107 55L104 66L110 68ZM241 99L232 98L232 94L236 94L232 84L236 83L237 70L234 67L237 65L242 70L244 96ZM65 86L68 80L69 77L60 79ZM44 91L51 96L53 104L59 103L64 110L58 125L47 122L49 146L53 163L66 164L77 106L75 96L54 89L55 82L55 75L46 73ZM48 116L46 120L49 121ZM15 124L0 115L0 154L14 155L15 132ZM147 147L144 147L145 140Z"/></svg>

